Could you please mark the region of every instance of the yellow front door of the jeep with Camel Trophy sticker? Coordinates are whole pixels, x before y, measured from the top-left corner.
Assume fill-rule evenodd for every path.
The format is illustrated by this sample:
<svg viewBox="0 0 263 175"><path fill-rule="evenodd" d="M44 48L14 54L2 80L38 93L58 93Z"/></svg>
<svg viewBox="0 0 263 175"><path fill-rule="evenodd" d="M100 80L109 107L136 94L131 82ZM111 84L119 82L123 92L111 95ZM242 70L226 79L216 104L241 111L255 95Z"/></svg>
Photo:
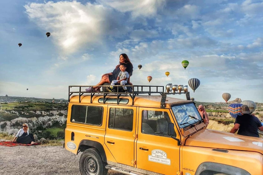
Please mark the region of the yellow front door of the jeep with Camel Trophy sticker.
<svg viewBox="0 0 263 175"><path fill-rule="evenodd" d="M139 107L137 168L161 174L176 174L179 170L178 141L167 134L168 123L174 123L169 109ZM175 126L175 136L180 135Z"/></svg>

